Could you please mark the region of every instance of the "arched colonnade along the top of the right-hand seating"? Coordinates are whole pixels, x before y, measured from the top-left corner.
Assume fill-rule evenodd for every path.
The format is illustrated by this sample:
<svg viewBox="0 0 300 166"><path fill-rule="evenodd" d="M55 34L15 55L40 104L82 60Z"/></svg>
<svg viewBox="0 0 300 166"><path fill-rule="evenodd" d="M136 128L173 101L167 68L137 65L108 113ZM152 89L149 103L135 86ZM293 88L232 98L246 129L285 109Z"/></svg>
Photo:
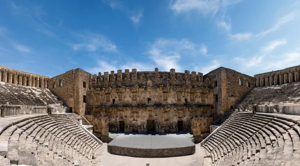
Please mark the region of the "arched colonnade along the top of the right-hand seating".
<svg viewBox="0 0 300 166"><path fill-rule="evenodd" d="M255 76L256 87L300 81L300 67Z"/></svg>

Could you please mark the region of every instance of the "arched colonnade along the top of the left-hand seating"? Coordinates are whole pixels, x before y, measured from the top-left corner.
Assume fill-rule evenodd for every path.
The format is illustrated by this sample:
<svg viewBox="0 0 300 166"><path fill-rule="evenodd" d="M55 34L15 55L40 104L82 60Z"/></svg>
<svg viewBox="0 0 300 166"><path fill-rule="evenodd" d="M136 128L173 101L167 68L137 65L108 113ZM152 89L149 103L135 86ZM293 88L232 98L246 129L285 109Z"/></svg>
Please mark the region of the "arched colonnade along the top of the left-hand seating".
<svg viewBox="0 0 300 166"><path fill-rule="evenodd" d="M0 81L25 86L48 88L48 77L1 68Z"/></svg>

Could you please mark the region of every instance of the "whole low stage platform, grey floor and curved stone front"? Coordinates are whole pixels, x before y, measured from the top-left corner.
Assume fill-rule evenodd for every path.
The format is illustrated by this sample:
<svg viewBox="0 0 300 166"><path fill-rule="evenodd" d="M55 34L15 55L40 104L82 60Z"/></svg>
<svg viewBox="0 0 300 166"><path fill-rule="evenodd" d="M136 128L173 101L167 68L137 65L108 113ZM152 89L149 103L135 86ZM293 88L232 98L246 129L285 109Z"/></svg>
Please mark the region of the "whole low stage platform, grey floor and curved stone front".
<svg viewBox="0 0 300 166"><path fill-rule="evenodd" d="M195 144L188 133L109 133L107 144L111 154L134 157L171 157L195 153Z"/></svg>

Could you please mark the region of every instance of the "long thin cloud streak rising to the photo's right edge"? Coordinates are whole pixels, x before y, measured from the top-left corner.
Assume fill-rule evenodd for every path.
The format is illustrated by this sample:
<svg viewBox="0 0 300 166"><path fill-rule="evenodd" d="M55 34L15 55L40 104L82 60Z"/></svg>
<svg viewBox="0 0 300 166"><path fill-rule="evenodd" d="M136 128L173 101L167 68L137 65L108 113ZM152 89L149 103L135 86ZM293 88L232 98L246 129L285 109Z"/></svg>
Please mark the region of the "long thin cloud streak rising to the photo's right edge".
<svg viewBox="0 0 300 166"><path fill-rule="evenodd" d="M282 25L292 21L297 15L299 15L299 13L300 13L299 10L291 11L290 13L278 18L278 20L273 26L257 34L253 34L251 32L243 32L243 33L236 33L236 34L229 33L229 39L233 41L241 41L241 40L248 40L253 37L263 37L264 35L279 29Z"/></svg>

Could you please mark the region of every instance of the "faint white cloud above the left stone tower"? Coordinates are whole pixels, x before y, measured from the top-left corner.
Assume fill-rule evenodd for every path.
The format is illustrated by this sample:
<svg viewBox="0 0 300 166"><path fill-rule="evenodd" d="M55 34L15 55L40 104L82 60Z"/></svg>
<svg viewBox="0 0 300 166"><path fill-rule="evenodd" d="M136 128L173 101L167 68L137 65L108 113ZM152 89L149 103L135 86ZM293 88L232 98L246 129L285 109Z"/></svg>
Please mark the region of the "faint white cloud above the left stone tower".
<svg viewBox="0 0 300 166"><path fill-rule="evenodd" d="M72 43L70 46L73 50L86 50L90 52L94 51L105 51L105 52L116 52L117 48L109 39L104 35L92 32L84 32L78 34L80 39L79 43Z"/></svg>

